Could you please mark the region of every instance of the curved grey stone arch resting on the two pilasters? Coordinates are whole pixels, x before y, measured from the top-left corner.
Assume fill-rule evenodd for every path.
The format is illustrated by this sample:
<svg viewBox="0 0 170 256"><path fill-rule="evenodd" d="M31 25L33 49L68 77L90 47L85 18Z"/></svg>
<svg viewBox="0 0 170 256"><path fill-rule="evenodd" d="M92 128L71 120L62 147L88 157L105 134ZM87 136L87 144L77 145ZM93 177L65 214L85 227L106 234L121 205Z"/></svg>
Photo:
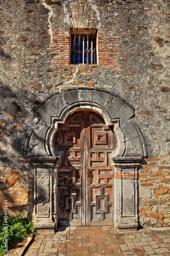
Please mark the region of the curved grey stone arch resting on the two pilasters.
<svg viewBox="0 0 170 256"><path fill-rule="evenodd" d="M36 110L38 120L30 137L28 156L54 156L51 142L58 123L63 123L70 113L83 108L98 112L107 125L114 124L119 148L117 157L147 155L142 134L131 119L134 115L131 106L108 91L77 88L62 90Z"/></svg>

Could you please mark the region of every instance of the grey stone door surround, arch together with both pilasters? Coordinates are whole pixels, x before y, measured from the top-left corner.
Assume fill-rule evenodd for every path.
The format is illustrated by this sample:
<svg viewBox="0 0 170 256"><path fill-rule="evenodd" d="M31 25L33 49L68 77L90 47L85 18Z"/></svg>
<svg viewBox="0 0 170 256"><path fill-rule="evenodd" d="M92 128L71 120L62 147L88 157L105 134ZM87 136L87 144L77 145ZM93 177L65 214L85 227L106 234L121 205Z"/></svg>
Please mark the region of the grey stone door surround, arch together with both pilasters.
<svg viewBox="0 0 170 256"><path fill-rule="evenodd" d="M57 227L57 162L53 137L59 123L74 111L88 109L114 125L118 150L111 158L114 166L114 226L117 230L137 228L138 168L147 156L143 136L133 122L134 109L109 91L94 88L61 90L36 110L36 125L30 136L28 156L34 173L34 216L38 229ZM39 201L45 195L44 201Z"/></svg>

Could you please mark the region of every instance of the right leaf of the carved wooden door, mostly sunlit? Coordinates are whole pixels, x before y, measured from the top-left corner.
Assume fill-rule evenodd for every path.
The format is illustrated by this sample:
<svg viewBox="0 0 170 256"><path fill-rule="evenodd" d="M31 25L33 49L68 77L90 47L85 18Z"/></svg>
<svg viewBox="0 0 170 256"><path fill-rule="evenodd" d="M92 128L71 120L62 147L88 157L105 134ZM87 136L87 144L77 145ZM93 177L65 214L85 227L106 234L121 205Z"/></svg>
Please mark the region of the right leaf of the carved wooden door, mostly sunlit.
<svg viewBox="0 0 170 256"><path fill-rule="evenodd" d="M90 127L90 138L90 225L112 225L112 131L105 123L93 123Z"/></svg>

